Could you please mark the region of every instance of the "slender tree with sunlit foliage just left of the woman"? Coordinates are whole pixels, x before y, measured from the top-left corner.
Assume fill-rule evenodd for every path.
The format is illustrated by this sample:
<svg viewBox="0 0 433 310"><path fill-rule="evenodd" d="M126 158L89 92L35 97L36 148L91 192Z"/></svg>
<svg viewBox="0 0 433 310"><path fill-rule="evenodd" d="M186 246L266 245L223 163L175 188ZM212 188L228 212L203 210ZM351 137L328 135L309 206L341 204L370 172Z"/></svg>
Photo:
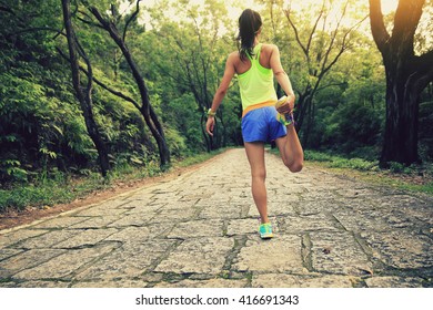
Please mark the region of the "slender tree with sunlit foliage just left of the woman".
<svg viewBox="0 0 433 310"><path fill-rule="evenodd" d="M167 20L164 16L160 16L162 7L153 8L155 29L150 31L149 37L154 38L148 39L152 39L158 45L148 44L143 49L151 50L148 53L151 54L150 58L157 59L153 62L158 63L160 74L174 81L178 92L189 92L193 95L201 117L202 140L207 149L211 151L225 143L223 133L228 132L225 124L230 122L221 108L216 115L219 126L215 127L213 138L205 132L205 112L212 104L213 93L222 76L223 64L229 53L226 50L229 44L221 44L223 38L221 29L228 25L226 19L221 17L226 16L226 9L221 1L198 4L182 0L170 3L181 21Z"/></svg>

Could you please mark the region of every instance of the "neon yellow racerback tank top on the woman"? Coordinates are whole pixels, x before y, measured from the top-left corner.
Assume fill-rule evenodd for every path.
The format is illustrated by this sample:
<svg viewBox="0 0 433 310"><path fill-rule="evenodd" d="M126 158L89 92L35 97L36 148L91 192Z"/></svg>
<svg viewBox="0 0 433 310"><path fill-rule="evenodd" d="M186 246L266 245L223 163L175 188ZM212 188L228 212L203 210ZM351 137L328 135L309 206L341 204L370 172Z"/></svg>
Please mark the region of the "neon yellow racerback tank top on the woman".
<svg viewBox="0 0 433 310"><path fill-rule="evenodd" d="M246 72L238 74L242 110L245 110L254 104L265 103L269 101L276 102L278 100L273 85L272 69L264 68L259 62L261 49L262 44L254 46L253 58L246 54L251 61L251 68Z"/></svg>

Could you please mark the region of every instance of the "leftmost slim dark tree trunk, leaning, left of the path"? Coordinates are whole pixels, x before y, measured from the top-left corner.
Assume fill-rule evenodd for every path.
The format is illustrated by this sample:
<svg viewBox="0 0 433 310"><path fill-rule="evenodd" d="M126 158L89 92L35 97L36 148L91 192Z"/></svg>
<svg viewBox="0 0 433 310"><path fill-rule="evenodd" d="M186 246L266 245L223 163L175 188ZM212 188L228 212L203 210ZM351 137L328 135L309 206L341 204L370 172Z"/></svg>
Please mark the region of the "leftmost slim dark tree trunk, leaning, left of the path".
<svg viewBox="0 0 433 310"><path fill-rule="evenodd" d="M98 151L102 176L107 176L107 173L110 169L108 151L101 137L101 134L99 133L98 125L97 122L94 121L93 110L92 110L92 96L91 96L92 69L89 59L84 54L84 51L81 50L81 55L84 58L84 61L87 62L88 65L88 84L84 94L83 90L81 89L80 66L78 63L78 50L80 49L80 46L71 22L70 0L62 0L62 10L63 10L64 28L67 31L73 87L75 90L77 97L81 105L81 110L83 113L85 127L88 130L89 136L93 141L94 146L97 147Z"/></svg>

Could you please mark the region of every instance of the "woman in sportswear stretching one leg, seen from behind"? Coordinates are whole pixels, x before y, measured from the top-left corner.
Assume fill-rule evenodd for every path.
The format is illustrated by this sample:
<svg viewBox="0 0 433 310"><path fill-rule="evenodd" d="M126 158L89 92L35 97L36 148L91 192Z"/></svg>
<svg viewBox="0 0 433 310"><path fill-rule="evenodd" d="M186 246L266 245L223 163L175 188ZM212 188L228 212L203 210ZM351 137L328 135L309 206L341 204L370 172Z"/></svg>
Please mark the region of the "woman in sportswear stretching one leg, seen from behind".
<svg viewBox="0 0 433 310"><path fill-rule="evenodd" d="M264 144L274 141L284 165L293 173L303 166L303 151L294 128L292 110L294 93L284 72L280 51L274 44L262 44L259 37L262 20L258 12L246 9L239 18L239 51L232 52L225 63L224 75L208 112L207 132L212 135L214 115L238 74L242 101L242 136L251 166L252 195L258 207L261 238L272 238L272 225L268 218L264 165ZM284 90L286 99L278 103L273 76Z"/></svg>

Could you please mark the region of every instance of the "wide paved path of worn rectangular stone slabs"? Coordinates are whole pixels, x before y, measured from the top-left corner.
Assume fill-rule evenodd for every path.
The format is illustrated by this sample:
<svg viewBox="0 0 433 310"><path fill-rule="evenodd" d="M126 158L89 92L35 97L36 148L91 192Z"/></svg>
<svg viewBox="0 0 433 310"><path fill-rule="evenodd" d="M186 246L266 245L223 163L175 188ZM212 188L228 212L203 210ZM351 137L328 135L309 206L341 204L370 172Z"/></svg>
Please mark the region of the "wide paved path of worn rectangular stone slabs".
<svg viewBox="0 0 433 310"><path fill-rule="evenodd" d="M433 197L266 154L276 236L259 238L243 149L0 231L0 287L433 287Z"/></svg>

